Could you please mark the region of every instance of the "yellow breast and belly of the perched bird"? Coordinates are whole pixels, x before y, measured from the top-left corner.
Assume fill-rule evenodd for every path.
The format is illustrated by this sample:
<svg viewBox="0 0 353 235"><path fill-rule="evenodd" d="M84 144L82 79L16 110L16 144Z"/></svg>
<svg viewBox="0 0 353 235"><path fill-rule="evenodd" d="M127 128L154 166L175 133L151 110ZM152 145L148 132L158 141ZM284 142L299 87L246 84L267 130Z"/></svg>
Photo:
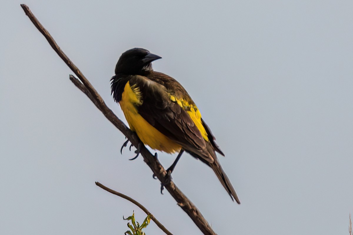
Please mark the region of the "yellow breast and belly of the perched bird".
<svg viewBox="0 0 353 235"><path fill-rule="evenodd" d="M136 107L141 105L142 102L138 89L132 89L130 83L127 82L119 104L130 129L135 131L140 140L152 149L167 153L180 151L181 146L179 144L163 135L139 115Z"/></svg>

